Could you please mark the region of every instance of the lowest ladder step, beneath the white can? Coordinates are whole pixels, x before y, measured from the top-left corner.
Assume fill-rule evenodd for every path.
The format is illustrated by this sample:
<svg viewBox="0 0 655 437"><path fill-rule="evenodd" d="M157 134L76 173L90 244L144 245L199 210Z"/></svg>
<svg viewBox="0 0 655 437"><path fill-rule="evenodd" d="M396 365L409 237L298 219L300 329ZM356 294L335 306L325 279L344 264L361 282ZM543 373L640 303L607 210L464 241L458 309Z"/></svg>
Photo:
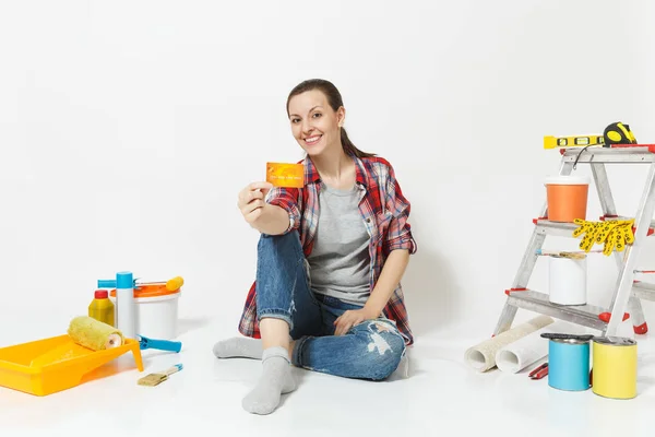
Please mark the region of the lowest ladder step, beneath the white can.
<svg viewBox="0 0 655 437"><path fill-rule="evenodd" d="M527 309L557 319L582 324L593 329L603 330L606 323L599 319L599 315L607 309L594 305L557 305L551 304L545 293L526 290L524 292L509 292L508 303L517 308Z"/></svg>

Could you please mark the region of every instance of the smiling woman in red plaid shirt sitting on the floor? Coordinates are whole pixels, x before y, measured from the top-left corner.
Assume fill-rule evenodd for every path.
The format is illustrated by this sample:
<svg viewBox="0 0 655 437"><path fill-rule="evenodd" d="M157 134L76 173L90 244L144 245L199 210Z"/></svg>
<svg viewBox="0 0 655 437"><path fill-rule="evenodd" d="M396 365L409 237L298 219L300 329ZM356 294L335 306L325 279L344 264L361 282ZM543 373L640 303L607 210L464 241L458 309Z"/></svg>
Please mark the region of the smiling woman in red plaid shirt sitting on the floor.
<svg viewBox="0 0 655 437"><path fill-rule="evenodd" d="M214 345L218 358L262 359L262 376L242 400L257 414L272 413L296 389L289 364L381 380L414 342L401 279L416 241L393 167L350 142L332 83L297 85L287 114L307 153L303 187L255 181L239 192L243 218L261 233L239 324L252 339Z"/></svg>

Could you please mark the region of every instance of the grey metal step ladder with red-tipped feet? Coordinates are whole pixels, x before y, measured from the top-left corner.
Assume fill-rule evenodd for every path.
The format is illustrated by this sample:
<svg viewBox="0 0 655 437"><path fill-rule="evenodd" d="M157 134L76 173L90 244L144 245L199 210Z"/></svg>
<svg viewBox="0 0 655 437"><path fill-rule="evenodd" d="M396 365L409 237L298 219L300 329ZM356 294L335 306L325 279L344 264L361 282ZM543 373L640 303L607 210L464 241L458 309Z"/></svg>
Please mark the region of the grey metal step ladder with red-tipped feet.
<svg viewBox="0 0 655 437"><path fill-rule="evenodd" d="M496 326L493 335L509 330L514 321L519 308L547 315L560 320L565 320L580 326L597 329L602 335L616 335L619 324L626 319L632 320L634 332L647 332L640 299L655 300L655 284L634 281L636 260L646 243L653 235L655 222L655 144L614 144L609 147L562 147L559 174L568 176L577 164L588 164L594 178L594 184L600 200L603 216L600 220L628 220L632 217L619 216L609 181L607 179L606 164L647 164L650 165L645 186L634 215L634 241L626 245L623 251L614 251L619 274L614 288L611 303L608 308L594 305L564 306L551 304L547 293L527 288L528 281L537 262L538 250L541 249L546 236L573 237L577 227L574 223L558 223L548 221L548 206L544 206L537 218L533 220L535 228L525 249L519 271L512 287L505 291L507 300Z"/></svg>

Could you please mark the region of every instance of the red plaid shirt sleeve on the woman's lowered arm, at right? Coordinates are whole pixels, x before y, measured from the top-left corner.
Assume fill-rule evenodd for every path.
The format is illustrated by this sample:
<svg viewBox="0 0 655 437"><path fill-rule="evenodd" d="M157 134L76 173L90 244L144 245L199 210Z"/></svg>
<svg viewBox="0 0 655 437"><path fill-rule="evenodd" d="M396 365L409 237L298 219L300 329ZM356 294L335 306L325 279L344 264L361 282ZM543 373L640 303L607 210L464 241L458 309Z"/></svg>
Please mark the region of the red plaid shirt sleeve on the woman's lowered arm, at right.
<svg viewBox="0 0 655 437"><path fill-rule="evenodd" d="M416 253L417 244L412 235L412 225L408 222L412 205L403 194L391 165L389 165L385 203L386 210L391 213L391 218L383 250L390 253L392 250L407 249L410 255Z"/></svg>

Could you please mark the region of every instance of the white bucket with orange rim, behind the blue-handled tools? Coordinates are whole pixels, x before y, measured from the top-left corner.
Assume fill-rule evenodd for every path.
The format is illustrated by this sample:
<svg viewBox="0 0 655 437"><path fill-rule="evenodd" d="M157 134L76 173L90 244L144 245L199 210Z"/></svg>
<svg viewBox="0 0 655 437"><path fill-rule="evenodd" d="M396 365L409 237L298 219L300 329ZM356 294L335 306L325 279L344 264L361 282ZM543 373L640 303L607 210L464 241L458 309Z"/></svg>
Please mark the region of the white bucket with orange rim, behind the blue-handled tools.
<svg viewBox="0 0 655 437"><path fill-rule="evenodd" d="M156 340L175 339L180 295L181 288L170 292L165 284L134 288L136 334ZM116 290L111 291L109 298L116 303Z"/></svg>

